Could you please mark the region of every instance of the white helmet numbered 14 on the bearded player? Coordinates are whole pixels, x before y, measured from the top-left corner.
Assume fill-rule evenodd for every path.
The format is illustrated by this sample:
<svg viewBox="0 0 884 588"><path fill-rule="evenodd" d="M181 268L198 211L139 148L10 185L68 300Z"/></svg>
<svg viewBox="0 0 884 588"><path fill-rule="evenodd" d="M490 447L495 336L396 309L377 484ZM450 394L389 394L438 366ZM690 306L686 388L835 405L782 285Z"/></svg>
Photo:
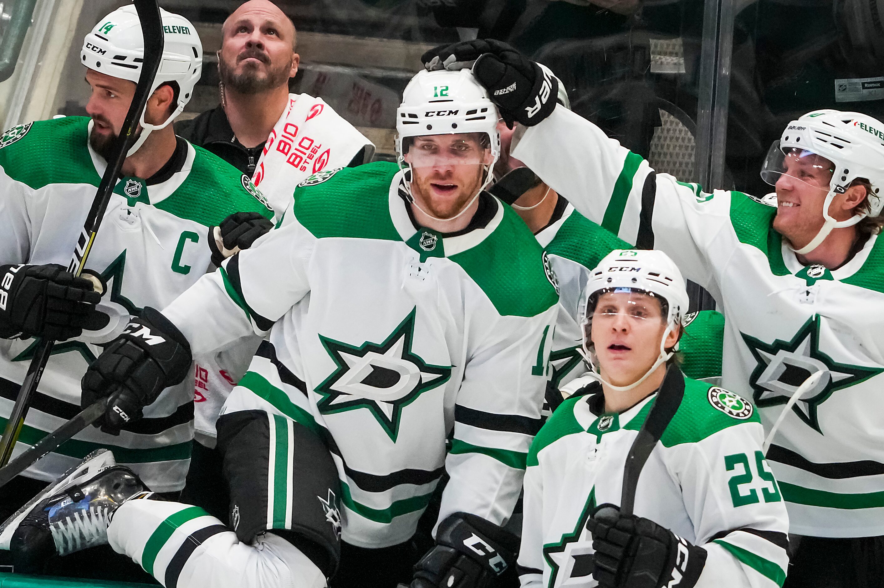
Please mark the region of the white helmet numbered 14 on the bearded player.
<svg viewBox="0 0 884 588"><path fill-rule="evenodd" d="M163 61L160 62L150 93L153 94L156 88L165 83L177 82L178 108L160 125L145 123L144 113L141 113L141 137L129 149L128 155L141 147L151 131L168 126L184 110L194 95L194 86L202 73L202 42L194 25L162 8L160 16L164 30ZM141 75L143 58L141 21L132 4L118 8L99 20L86 35L80 51L80 60L89 69L135 83L138 83Z"/></svg>

